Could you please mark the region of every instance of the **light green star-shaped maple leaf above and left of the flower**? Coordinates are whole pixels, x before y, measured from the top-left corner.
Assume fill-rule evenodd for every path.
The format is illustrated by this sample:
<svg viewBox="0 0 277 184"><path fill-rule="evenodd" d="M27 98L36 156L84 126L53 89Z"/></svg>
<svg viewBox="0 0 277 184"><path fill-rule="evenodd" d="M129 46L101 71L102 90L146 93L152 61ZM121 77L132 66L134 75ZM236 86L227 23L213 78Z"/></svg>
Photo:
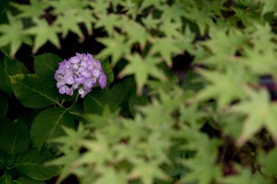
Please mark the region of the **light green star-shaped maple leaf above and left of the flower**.
<svg viewBox="0 0 277 184"><path fill-rule="evenodd" d="M37 52L47 41L53 43L57 48L60 48L59 37L57 37L60 29L55 25L48 25L44 19L33 19L33 21L36 25L26 30L27 34L35 35L35 45L33 46L32 52Z"/></svg>

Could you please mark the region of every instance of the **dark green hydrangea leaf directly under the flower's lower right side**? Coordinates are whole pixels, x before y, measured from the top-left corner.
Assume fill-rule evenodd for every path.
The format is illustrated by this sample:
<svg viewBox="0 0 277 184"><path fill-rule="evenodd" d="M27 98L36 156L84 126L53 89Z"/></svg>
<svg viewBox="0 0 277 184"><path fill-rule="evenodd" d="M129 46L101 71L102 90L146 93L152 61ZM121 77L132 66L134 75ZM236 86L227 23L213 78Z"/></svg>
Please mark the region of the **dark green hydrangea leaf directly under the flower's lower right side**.
<svg viewBox="0 0 277 184"><path fill-rule="evenodd" d="M104 90L92 90L84 97L84 111L101 114L105 106L108 105L111 110L116 110L118 101L114 94L108 88Z"/></svg>

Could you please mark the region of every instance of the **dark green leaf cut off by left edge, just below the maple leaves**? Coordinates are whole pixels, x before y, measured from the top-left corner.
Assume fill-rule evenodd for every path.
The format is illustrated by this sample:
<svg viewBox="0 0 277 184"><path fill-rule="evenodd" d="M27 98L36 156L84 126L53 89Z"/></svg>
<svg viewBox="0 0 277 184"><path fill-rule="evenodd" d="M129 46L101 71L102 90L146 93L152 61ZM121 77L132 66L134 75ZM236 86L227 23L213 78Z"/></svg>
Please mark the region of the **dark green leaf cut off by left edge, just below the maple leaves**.
<svg viewBox="0 0 277 184"><path fill-rule="evenodd" d="M10 59L6 56L0 59L0 89L7 94L12 93L12 86L10 85L9 75L26 73L27 69L23 63L16 59Z"/></svg>

